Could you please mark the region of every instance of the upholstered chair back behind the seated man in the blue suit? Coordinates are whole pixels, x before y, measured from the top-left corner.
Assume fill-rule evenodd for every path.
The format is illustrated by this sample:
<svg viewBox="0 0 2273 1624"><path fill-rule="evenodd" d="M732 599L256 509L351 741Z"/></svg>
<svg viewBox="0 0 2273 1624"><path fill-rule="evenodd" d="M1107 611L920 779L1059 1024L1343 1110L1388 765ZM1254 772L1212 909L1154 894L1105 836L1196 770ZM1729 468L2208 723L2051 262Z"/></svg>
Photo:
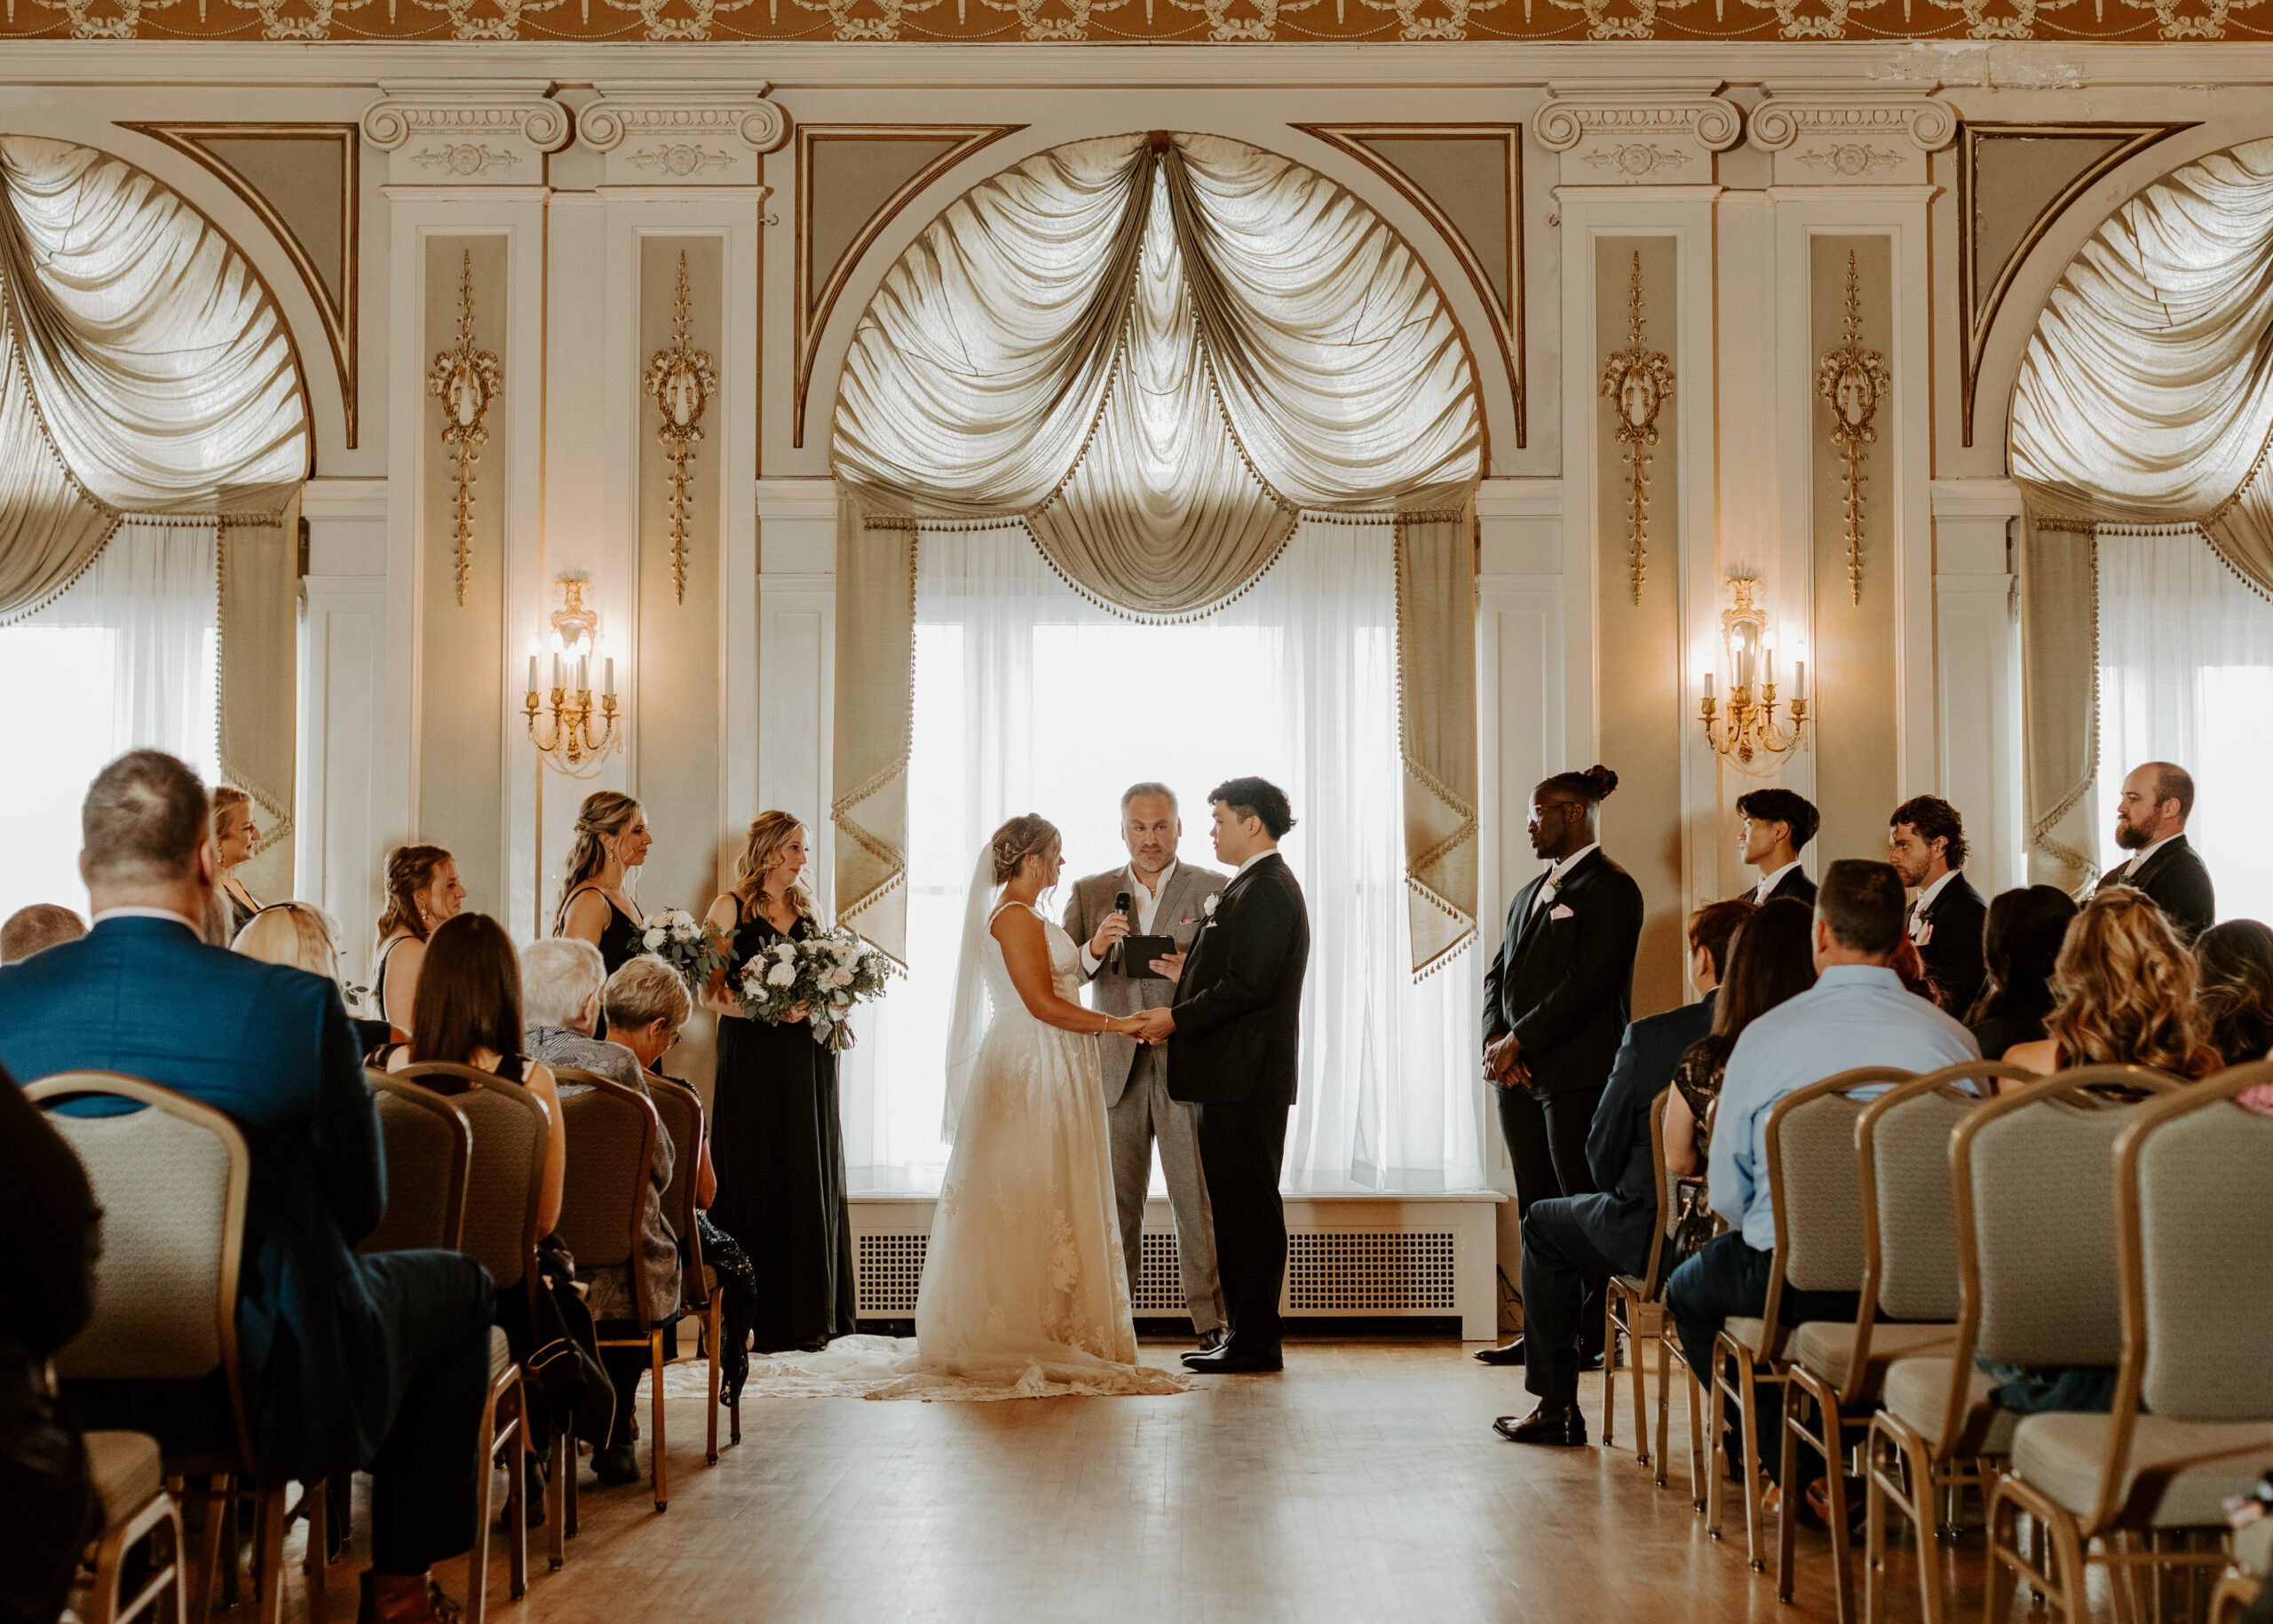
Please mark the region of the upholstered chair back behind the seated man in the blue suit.
<svg viewBox="0 0 2273 1624"><path fill-rule="evenodd" d="M57 1356L66 1381L195 1381L230 1390L236 1447L252 1460L236 1372L236 1271L252 1153L230 1117L114 1071L64 1071L25 1087L70 1144L102 1208L95 1312ZM66 1099L130 1105L70 1117Z"/></svg>

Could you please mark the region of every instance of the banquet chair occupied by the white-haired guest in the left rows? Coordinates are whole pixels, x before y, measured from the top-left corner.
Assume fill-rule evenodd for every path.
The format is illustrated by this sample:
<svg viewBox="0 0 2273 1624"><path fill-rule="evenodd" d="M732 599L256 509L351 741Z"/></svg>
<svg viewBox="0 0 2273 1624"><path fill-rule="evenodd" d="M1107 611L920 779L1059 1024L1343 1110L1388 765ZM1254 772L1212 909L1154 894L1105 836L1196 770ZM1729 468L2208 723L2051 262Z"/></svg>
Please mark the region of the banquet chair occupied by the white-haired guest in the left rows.
<svg viewBox="0 0 2273 1624"><path fill-rule="evenodd" d="M555 1067L552 1080L561 1089L561 1133L568 1135L568 1174L561 1183L557 1233L575 1253L577 1267L630 1271L634 1317L596 1324L593 1340L602 1349L634 1347L648 1353L655 1510L668 1510L664 1324L648 1312L648 1258L641 1246L661 1119L646 1094L598 1071Z"/></svg>

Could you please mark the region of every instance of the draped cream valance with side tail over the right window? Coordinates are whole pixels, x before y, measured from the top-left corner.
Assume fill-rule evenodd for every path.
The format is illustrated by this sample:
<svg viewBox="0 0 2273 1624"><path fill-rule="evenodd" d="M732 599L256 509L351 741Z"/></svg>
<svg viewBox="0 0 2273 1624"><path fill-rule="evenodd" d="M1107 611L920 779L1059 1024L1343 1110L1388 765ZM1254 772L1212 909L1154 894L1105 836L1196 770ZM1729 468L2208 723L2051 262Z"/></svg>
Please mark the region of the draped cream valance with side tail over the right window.
<svg viewBox="0 0 2273 1624"><path fill-rule="evenodd" d="M2273 596L2273 139L2164 175L2084 243L2012 398L2032 876L2091 876L2093 532L2187 528Z"/></svg>

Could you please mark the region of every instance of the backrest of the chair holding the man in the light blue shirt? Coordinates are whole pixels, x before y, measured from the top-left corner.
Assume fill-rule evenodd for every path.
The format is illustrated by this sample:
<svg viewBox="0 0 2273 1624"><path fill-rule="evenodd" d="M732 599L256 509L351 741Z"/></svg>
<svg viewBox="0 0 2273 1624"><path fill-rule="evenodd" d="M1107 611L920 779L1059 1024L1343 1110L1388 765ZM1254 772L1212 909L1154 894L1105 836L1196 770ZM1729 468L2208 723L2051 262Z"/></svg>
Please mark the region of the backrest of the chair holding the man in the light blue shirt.
<svg viewBox="0 0 2273 1624"><path fill-rule="evenodd" d="M1800 1292L1852 1292L1864 1276L1855 1124L1871 1099L1914 1071L1857 1067L1793 1089L1768 1112L1773 1278Z"/></svg>

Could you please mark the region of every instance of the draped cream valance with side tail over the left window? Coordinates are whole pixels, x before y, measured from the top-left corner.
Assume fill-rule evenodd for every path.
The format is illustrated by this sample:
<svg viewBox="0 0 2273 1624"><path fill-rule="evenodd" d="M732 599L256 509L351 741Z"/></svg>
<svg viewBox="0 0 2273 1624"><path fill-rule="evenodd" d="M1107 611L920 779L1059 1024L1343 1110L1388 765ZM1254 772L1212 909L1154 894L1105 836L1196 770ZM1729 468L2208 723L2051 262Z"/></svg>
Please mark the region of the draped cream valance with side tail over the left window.
<svg viewBox="0 0 2273 1624"><path fill-rule="evenodd" d="M0 136L0 625L125 516L220 532L220 762L291 823L300 368L245 257L164 184Z"/></svg>

